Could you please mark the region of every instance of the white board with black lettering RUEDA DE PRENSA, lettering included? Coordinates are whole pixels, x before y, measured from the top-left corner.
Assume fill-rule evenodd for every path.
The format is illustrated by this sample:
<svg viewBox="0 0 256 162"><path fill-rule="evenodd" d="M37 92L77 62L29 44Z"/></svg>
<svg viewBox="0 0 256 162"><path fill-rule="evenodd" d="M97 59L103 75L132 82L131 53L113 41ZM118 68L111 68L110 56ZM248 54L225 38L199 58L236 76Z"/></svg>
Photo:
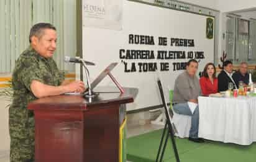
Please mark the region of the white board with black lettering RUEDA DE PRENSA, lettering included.
<svg viewBox="0 0 256 162"><path fill-rule="evenodd" d="M124 87L139 88L127 110L158 106L162 102L157 78L162 79L168 96L188 60L200 60L198 73L214 61L214 37L206 38L208 16L127 0L123 3L121 31L83 27L83 58L96 63L88 67L91 80L110 63L119 62L111 71L117 81ZM114 84L106 78L98 86Z"/></svg>

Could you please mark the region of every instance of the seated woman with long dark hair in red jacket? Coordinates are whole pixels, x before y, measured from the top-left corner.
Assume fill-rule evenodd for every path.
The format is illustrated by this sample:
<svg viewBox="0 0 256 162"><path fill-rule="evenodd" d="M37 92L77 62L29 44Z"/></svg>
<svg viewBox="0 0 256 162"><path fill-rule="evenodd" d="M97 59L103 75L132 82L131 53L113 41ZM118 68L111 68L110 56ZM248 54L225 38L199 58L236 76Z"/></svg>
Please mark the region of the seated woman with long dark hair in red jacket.
<svg viewBox="0 0 256 162"><path fill-rule="evenodd" d="M204 66L203 76L199 79L199 83L204 96L217 92L216 68L213 63Z"/></svg>

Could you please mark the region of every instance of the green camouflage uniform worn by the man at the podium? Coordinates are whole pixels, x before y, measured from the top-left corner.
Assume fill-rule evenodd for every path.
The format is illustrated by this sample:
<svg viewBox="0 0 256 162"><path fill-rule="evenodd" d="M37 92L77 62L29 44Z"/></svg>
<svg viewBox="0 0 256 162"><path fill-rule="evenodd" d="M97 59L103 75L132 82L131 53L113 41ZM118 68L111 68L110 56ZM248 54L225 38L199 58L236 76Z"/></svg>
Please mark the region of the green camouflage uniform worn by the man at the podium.
<svg viewBox="0 0 256 162"><path fill-rule="evenodd" d="M29 47L19 56L12 74L14 99L9 108L11 162L34 161L34 114L27 109L29 102L37 99L30 89L32 80L60 86L64 73L58 70L52 58L43 58Z"/></svg>

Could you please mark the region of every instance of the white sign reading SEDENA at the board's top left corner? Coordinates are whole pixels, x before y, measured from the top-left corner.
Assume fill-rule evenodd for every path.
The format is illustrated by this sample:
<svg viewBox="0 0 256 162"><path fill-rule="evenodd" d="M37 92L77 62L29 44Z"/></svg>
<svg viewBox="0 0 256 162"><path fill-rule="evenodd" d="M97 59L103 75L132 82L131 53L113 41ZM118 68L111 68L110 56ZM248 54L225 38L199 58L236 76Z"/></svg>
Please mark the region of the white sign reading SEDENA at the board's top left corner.
<svg viewBox="0 0 256 162"><path fill-rule="evenodd" d="M122 29L122 0L83 0L83 26Z"/></svg>

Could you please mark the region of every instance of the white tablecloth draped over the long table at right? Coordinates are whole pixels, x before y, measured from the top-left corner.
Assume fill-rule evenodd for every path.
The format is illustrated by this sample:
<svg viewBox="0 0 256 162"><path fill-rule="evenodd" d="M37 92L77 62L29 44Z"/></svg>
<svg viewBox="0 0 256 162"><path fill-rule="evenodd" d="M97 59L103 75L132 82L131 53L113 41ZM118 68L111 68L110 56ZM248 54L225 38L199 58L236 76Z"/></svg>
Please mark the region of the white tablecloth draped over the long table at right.
<svg viewBox="0 0 256 162"><path fill-rule="evenodd" d="M256 97L198 97L201 138L250 145L256 142Z"/></svg>

